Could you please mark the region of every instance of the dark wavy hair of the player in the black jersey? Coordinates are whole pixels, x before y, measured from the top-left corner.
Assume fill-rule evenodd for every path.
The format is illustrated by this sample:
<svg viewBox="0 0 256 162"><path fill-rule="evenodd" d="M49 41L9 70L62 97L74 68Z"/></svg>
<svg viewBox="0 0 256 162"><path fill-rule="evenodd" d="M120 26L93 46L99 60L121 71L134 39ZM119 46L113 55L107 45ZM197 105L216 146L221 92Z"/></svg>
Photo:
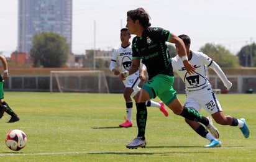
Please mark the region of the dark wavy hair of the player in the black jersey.
<svg viewBox="0 0 256 162"><path fill-rule="evenodd" d="M130 10L127 12L127 16L129 16L130 19L132 19L134 22L135 22L135 20L139 20L142 27L150 27L151 26L151 24L149 22L150 16L145 11L144 8L140 7L140 8L134 9L134 10Z"/></svg>

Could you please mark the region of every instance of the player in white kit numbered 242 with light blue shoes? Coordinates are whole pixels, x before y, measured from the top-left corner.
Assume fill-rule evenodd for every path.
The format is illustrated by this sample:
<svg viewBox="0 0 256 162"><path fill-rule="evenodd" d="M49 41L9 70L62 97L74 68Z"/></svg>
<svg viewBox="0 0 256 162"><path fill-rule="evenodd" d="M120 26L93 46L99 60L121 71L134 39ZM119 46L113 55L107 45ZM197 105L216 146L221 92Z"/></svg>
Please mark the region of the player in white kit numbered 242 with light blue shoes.
<svg viewBox="0 0 256 162"><path fill-rule="evenodd" d="M190 50L191 40L188 35L183 34L179 35L178 37L180 37L185 43L188 60L194 66L194 68L196 68L195 73L187 73L183 66L183 61L180 58L180 48L176 46L176 52L178 55L172 58L171 64L173 65L173 71L178 74L178 76L180 76L180 78L185 83L186 101L184 106L191 107L197 112L200 112L201 107L203 107L204 110L212 115L217 124L239 127L244 137L248 138L250 131L245 122L245 119L237 119L231 115L224 115L217 96L214 94L214 91L211 88L211 83L209 83L205 66L213 69L217 73L227 89L231 88L231 81L227 79L219 65L217 65L214 60L209 58L209 56L202 52L195 52ZM205 147L221 146L221 142L216 139L219 138L219 136L214 138L213 135L211 135L211 133L209 133L203 127L203 125L199 124L198 122L194 122L188 119L185 119L185 121L188 125L190 125L191 128L193 128L196 133L210 141L209 145L206 145Z"/></svg>

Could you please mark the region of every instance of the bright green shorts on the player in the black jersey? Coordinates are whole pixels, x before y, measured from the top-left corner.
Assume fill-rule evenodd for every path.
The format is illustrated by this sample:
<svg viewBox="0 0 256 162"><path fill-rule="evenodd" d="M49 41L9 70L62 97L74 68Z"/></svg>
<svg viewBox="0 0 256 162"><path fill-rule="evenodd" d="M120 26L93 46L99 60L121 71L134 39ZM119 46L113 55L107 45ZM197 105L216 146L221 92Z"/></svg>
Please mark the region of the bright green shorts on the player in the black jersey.
<svg viewBox="0 0 256 162"><path fill-rule="evenodd" d="M166 105L177 98L173 89L174 76L157 74L142 87L149 93L150 99L159 97Z"/></svg>

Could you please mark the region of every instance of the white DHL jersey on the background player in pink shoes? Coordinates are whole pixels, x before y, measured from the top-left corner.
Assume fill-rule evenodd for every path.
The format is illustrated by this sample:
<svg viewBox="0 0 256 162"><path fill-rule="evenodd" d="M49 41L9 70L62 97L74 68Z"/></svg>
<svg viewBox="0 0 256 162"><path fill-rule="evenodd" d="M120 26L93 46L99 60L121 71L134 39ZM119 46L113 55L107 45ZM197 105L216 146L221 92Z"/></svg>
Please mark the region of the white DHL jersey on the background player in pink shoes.
<svg viewBox="0 0 256 162"><path fill-rule="evenodd" d="M119 63L119 65L117 65ZM129 70L132 65L132 44L126 48L120 45L119 47L114 48L111 57L111 63L109 69L112 71L117 66L121 66L121 71Z"/></svg>

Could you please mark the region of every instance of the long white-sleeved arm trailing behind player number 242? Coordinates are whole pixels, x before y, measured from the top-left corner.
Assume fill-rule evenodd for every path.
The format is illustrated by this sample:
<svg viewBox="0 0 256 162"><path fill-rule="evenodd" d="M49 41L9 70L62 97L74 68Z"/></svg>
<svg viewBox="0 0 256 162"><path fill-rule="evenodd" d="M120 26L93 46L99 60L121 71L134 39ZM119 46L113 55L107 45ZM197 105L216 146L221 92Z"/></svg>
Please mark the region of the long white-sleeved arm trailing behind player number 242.
<svg viewBox="0 0 256 162"><path fill-rule="evenodd" d="M227 76L224 74L224 72L221 70L221 67L219 65L217 65L217 63L215 61L213 61L211 63L209 68L211 68L215 71L215 73L219 76L219 78L221 78L222 83L224 84L224 86L227 89L230 89L232 87L231 81L229 81L229 79L227 79Z"/></svg>

